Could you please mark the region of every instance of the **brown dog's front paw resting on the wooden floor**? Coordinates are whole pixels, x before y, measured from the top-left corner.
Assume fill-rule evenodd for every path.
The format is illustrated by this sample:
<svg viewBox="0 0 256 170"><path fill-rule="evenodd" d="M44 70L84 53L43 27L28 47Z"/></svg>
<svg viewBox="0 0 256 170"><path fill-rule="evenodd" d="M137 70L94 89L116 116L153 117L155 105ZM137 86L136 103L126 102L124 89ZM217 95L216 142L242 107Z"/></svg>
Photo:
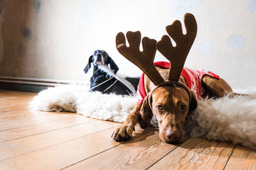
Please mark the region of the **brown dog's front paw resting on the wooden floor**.
<svg viewBox="0 0 256 170"><path fill-rule="evenodd" d="M115 129L111 137L116 141L126 141L132 138L133 131L135 131L134 126L122 125Z"/></svg>

